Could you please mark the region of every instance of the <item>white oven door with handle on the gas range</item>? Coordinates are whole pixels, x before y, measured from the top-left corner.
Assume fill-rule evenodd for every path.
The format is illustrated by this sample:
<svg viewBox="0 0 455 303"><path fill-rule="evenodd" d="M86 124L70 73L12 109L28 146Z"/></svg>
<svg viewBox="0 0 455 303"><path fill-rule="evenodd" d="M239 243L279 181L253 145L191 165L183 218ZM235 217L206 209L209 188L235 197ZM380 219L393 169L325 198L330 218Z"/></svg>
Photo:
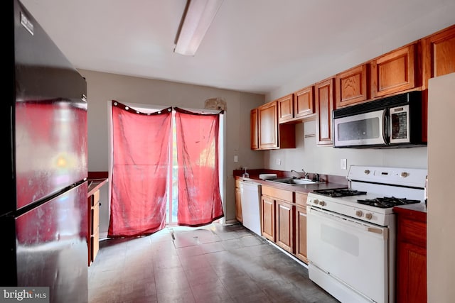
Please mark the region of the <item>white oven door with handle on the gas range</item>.
<svg viewBox="0 0 455 303"><path fill-rule="evenodd" d="M388 229L329 211L309 209L308 258L375 302L388 295Z"/></svg>

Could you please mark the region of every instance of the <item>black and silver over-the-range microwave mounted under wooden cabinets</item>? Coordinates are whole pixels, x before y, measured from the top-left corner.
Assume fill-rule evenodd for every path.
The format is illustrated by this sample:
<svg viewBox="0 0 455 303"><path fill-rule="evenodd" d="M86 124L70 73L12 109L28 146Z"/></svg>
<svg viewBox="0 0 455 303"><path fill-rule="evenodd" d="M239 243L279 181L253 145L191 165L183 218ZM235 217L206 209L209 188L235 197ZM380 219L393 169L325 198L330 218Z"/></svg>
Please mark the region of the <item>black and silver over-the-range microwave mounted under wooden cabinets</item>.
<svg viewBox="0 0 455 303"><path fill-rule="evenodd" d="M334 148L422 146L422 92L335 109Z"/></svg>

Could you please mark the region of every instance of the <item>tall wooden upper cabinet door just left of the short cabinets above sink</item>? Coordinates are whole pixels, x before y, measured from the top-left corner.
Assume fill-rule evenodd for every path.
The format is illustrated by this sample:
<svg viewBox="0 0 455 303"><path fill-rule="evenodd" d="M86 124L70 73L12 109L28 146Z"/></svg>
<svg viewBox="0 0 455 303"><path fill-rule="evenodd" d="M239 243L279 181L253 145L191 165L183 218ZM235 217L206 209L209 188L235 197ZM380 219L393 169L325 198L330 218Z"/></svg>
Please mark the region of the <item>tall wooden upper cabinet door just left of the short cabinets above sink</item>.
<svg viewBox="0 0 455 303"><path fill-rule="evenodd" d="M259 149L278 148L277 101L259 106Z"/></svg>

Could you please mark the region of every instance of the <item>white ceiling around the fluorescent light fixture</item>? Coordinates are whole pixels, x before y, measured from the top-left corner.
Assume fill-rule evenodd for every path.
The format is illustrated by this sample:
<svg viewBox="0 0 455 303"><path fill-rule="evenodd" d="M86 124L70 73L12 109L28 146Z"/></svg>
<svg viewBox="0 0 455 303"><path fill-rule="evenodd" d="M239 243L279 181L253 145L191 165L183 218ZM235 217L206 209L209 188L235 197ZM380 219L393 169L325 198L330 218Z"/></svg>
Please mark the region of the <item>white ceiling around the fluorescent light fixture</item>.
<svg viewBox="0 0 455 303"><path fill-rule="evenodd" d="M224 0L187 57L173 53L186 0L21 1L78 69L259 94L299 89L455 23L454 0Z"/></svg>

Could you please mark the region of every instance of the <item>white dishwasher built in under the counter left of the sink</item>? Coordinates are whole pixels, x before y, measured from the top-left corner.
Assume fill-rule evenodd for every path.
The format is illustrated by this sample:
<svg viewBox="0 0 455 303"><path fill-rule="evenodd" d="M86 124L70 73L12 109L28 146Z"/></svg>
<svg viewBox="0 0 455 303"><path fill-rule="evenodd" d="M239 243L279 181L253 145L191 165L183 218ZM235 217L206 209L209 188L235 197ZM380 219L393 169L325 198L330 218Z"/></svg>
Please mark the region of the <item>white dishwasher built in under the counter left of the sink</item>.
<svg viewBox="0 0 455 303"><path fill-rule="evenodd" d="M240 181L240 199L242 201L243 226L262 236L261 184L252 181Z"/></svg>

